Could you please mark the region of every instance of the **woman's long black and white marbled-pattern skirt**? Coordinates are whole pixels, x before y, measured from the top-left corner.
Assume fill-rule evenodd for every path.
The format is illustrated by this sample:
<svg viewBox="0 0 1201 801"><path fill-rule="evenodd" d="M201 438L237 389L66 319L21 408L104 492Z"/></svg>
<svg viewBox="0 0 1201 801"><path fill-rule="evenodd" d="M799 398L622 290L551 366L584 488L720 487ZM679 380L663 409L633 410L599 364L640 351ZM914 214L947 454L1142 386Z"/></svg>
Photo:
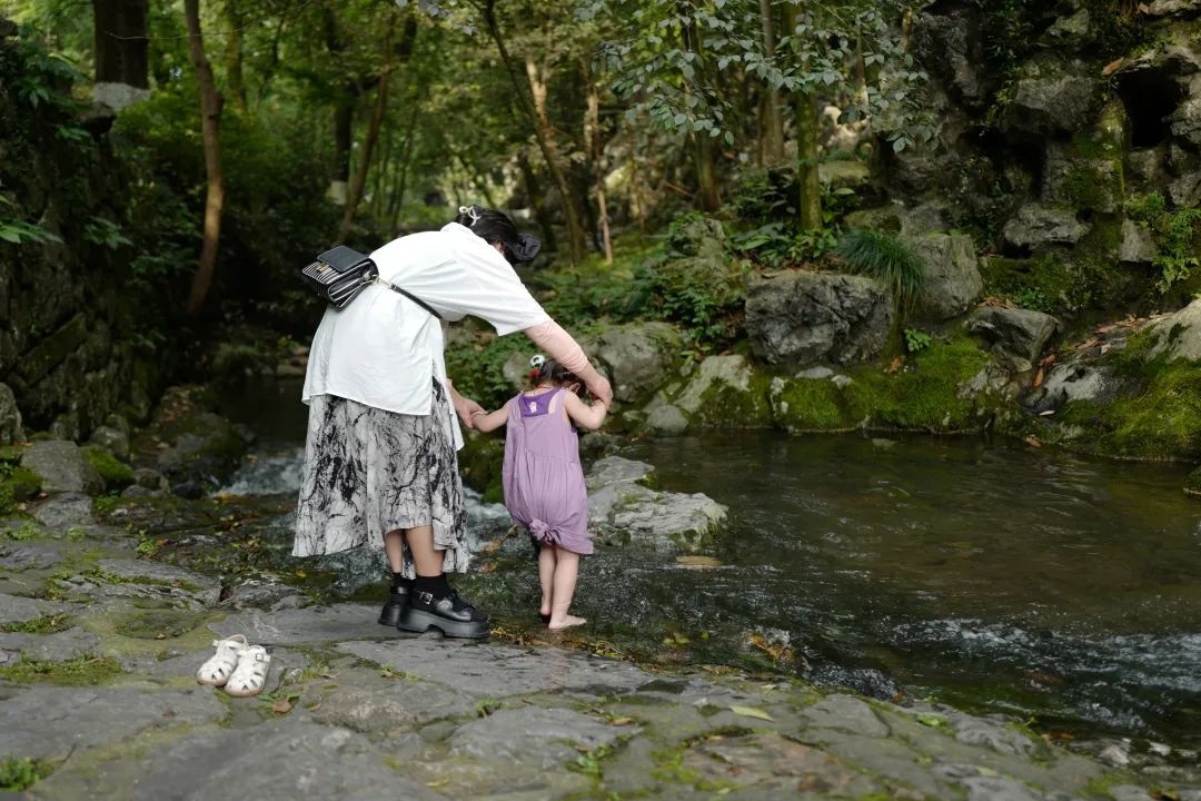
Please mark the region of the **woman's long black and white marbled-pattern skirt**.
<svg viewBox="0 0 1201 801"><path fill-rule="evenodd" d="M437 379L432 406L416 416L336 395L310 401L293 556L382 548L389 531L431 525L435 548L446 550L443 569L467 569L454 412ZM414 575L407 545L405 575Z"/></svg>

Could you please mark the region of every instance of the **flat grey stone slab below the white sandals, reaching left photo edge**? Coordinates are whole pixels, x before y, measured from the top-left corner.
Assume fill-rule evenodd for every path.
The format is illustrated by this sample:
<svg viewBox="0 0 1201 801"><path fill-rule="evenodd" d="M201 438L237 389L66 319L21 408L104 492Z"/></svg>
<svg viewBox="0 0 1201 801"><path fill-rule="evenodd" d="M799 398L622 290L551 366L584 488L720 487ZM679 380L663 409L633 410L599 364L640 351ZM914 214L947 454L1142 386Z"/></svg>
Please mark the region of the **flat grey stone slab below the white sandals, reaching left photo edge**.
<svg viewBox="0 0 1201 801"><path fill-rule="evenodd" d="M215 723L226 713L207 687L160 692L32 687L0 701L0 758L61 758L80 747L113 746L149 729Z"/></svg>

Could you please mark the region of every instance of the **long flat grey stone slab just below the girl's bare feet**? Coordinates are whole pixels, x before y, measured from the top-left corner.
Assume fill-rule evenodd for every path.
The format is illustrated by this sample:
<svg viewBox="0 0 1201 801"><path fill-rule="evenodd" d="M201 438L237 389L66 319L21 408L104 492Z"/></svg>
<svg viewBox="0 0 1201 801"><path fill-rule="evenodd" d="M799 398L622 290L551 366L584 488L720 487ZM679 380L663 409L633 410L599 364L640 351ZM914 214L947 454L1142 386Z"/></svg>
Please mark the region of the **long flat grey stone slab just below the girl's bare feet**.
<svg viewBox="0 0 1201 801"><path fill-rule="evenodd" d="M405 639L342 642L340 651L394 670L448 685L473 698L546 692L593 695L631 693L653 676L634 665L558 648L474 645L458 640Z"/></svg>

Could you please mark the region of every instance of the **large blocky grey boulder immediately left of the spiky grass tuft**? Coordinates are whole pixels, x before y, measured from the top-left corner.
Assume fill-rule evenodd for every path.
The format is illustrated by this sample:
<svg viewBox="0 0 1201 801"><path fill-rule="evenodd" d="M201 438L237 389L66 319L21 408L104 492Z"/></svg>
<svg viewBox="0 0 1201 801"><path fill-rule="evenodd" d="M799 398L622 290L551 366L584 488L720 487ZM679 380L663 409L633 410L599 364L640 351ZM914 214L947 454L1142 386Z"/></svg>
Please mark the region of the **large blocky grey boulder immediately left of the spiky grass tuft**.
<svg viewBox="0 0 1201 801"><path fill-rule="evenodd" d="M859 275L789 270L747 286L751 349L770 364L870 359L883 349L892 315L891 293Z"/></svg>

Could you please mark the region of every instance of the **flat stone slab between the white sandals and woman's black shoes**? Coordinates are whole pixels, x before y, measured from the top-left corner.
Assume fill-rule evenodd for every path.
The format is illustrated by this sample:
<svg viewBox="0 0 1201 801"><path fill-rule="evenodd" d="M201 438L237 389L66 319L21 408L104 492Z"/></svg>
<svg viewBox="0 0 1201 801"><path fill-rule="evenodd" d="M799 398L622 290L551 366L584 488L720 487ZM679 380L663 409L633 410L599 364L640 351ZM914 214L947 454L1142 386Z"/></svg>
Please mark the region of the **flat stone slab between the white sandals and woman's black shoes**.
<svg viewBox="0 0 1201 801"><path fill-rule="evenodd" d="M412 638L389 626L381 626L378 618L378 606L335 604L279 611L245 610L229 615L220 623L209 623L209 628L221 636L245 634L247 640L259 645Z"/></svg>

